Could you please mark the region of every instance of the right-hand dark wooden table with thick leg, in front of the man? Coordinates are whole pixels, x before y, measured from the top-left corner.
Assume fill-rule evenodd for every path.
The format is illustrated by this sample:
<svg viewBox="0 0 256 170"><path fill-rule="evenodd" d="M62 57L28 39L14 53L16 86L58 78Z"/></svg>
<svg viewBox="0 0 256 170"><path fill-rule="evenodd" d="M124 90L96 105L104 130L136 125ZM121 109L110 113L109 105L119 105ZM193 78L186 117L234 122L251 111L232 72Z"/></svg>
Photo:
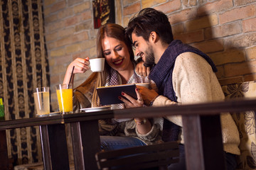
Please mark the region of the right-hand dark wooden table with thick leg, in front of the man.
<svg viewBox="0 0 256 170"><path fill-rule="evenodd" d="M182 115L187 169L225 169L220 113L256 111L256 99L239 99L182 106L130 108L114 118L152 118Z"/></svg>

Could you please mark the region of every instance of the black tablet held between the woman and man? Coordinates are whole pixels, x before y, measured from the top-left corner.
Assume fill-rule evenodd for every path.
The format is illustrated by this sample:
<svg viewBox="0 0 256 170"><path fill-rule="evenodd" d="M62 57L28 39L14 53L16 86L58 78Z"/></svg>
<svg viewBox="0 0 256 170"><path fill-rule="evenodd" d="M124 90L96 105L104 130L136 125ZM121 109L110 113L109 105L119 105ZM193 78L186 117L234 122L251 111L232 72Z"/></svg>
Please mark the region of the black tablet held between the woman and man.
<svg viewBox="0 0 256 170"><path fill-rule="evenodd" d="M132 96L137 99L136 94L136 85L135 84L123 84L117 86L101 86L97 87L97 94L100 98L101 105L110 105L110 104L118 104L124 103L119 100L118 96L122 96L122 92Z"/></svg>

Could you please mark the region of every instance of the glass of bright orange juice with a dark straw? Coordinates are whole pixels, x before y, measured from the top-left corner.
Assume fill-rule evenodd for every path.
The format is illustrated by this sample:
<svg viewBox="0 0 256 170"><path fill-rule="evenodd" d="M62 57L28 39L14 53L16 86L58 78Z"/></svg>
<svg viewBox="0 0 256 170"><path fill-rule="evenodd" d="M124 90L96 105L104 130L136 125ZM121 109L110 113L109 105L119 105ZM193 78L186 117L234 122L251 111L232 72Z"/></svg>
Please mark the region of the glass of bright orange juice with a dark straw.
<svg viewBox="0 0 256 170"><path fill-rule="evenodd" d="M56 85L60 113L73 113L73 84Z"/></svg>

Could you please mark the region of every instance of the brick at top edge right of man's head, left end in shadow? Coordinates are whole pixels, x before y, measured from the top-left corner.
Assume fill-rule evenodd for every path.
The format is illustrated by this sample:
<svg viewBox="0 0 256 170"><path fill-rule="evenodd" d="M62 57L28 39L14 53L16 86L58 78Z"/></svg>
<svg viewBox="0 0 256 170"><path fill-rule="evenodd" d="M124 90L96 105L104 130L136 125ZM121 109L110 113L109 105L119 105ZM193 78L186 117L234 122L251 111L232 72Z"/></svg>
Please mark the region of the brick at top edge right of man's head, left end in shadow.
<svg viewBox="0 0 256 170"><path fill-rule="evenodd" d="M221 1L214 1L203 6L198 7L198 15L208 15L209 13L215 13L219 11L227 11L228 9L233 7L232 0L221 0Z"/></svg>

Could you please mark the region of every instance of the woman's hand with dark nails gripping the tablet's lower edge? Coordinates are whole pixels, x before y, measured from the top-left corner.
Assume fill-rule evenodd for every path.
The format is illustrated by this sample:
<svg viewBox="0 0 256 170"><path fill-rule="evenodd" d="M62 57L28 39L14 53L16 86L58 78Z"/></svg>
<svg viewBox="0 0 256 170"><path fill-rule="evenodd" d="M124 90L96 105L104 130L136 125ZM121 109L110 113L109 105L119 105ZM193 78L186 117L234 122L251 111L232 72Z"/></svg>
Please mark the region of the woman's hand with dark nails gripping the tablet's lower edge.
<svg viewBox="0 0 256 170"><path fill-rule="evenodd" d="M119 100L124 102L124 105L126 108L137 108L137 107L143 106L144 102L143 102L141 94L139 94L139 90L135 89L135 91L136 91L137 98L138 98L137 100L135 98L132 98L128 94L125 94L124 92L122 92L122 96L124 96L127 99L119 96Z"/></svg>

